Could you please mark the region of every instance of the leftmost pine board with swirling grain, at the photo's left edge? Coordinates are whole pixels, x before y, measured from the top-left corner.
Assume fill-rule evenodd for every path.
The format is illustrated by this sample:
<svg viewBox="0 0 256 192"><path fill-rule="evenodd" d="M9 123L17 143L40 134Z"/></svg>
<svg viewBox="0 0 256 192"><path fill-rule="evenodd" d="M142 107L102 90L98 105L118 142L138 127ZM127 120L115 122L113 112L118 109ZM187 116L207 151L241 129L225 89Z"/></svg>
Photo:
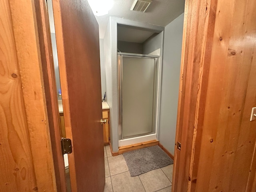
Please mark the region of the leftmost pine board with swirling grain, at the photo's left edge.
<svg viewBox="0 0 256 192"><path fill-rule="evenodd" d="M0 12L0 191L25 191L37 184L8 0Z"/></svg>

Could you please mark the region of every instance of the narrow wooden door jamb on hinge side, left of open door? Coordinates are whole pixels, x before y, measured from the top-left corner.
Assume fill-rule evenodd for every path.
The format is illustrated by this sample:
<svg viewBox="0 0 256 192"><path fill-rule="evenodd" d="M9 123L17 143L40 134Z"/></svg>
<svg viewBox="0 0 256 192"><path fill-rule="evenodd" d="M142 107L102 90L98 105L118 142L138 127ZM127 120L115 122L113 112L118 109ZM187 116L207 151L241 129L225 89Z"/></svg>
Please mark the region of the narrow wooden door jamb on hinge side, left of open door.
<svg viewBox="0 0 256 192"><path fill-rule="evenodd" d="M38 30L38 42L42 60L42 76L46 98L46 110L49 122L49 134L51 139L52 156L54 162L56 189L58 192L66 192L66 178L64 158L61 148L60 114L58 109L57 88L52 55L52 43L50 35L50 23L45 0L35 0L36 23Z"/></svg>

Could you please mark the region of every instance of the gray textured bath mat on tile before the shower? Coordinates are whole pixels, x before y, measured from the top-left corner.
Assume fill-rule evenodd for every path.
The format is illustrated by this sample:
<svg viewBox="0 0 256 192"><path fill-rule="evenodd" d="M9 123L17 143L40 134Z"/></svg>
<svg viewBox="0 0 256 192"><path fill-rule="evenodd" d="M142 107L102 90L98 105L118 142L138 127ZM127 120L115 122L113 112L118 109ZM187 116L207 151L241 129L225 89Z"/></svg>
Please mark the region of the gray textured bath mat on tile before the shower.
<svg viewBox="0 0 256 192"><path fill-rule="evenodd" d="M123 156L132 177L173 164L158 145L126 152Z"/></svg>

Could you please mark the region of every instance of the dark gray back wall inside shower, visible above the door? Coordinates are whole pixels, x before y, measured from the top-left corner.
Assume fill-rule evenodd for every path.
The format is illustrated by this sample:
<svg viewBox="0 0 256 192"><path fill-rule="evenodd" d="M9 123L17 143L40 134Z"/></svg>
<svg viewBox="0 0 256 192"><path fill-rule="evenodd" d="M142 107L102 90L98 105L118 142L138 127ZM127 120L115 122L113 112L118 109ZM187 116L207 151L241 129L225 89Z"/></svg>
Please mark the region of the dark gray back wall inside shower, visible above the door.
<svg viewBox="0 0 256 192"><path fill-rule="evenodd" d="M138 53L142 54L142 43L117 41L117 48L123 53Z"/></svg>

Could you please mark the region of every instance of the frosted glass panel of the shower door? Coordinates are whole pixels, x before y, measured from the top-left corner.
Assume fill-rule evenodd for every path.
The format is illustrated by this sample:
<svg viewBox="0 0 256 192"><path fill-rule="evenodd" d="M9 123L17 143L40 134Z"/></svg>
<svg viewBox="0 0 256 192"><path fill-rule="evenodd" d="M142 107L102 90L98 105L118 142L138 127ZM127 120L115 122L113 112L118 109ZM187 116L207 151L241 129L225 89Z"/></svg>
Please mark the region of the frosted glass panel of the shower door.
<svg viewBox="0 0 256 192"><path fill-rule="evenodd" d="M155 132L155 58L122 56L122 138Z"/></svg>

